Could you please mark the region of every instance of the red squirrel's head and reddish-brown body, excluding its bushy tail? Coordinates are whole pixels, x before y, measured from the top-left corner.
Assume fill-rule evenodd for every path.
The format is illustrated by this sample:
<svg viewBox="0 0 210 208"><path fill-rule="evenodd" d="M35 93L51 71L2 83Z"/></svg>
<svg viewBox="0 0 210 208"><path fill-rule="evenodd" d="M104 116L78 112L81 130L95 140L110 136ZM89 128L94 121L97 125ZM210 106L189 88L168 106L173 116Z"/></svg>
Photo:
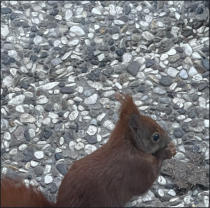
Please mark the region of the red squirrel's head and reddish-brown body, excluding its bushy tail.
<svg viewBox="0 0 210 208"><path fill-rule="evenodd" d="M162 161L176 154L167 133L139 113L131 96L116 98L120 117L108 142L74 162L59 187L57 207L123 207L148 191Z"/></svg>

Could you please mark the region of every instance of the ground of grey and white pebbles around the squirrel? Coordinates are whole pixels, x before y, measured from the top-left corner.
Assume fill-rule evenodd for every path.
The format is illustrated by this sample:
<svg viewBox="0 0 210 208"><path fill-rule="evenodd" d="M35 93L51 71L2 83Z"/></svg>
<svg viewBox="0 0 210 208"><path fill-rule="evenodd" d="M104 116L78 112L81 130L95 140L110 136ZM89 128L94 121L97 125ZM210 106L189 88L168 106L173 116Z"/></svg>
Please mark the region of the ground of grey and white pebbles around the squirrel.
<svg viewBox="0 0 210 208"><path fill-rule="evenodd" d="M177 145L128 206L209 205L209 10L204 1L1 3L2 173L51 200L73 161L105 143L115 92Z"/></svg>

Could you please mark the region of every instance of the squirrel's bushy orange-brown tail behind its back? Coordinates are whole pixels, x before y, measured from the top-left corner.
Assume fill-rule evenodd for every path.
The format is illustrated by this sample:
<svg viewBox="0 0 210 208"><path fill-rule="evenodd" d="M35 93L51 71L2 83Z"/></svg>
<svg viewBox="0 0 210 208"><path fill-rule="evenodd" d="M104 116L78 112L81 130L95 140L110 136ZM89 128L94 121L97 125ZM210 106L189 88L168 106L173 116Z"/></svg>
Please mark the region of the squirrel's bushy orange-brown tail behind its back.
<svg viewBox="0 0 210 208"><path fill-rule="evenodd" d="M53 207L43 194L11 178L1 180L1 207Z"/></svg>

